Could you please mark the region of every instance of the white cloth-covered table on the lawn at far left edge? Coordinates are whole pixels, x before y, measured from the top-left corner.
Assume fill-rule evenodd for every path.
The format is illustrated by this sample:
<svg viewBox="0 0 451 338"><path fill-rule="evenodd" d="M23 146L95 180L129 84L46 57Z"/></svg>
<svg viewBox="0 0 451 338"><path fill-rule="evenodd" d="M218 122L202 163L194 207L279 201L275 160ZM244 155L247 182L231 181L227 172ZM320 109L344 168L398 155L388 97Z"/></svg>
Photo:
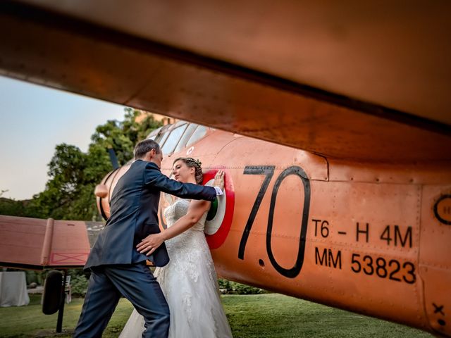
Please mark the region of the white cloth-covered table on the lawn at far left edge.
<svg viewBox="0 0 451 338"><path fill-rule="evenodd" d="M27 280L23 271L0 273L0 306L23 306L30 303Z"/></svg>

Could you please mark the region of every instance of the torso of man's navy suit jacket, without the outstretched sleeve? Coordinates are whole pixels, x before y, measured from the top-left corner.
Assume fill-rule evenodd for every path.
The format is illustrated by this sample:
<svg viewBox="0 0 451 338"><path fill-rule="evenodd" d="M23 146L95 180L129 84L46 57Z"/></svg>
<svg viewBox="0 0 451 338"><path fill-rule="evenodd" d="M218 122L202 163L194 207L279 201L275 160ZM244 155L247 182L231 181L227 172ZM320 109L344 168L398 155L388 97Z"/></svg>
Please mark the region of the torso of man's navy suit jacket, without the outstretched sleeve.
<svg viewBox="0 0 451 338"><path fill-rule="evenodd" d="M160 192L159 189L146 186L144 174L147 166L151 171L156 170L154 175L161 175L154 163L138 160L118 180L111 196L111 216L97 237L85 268L137 263L147 258L156 265L167 263L165 246L159 248L152 257L135 249L137 243L148 234L159 232L157 210Z"/></svg>

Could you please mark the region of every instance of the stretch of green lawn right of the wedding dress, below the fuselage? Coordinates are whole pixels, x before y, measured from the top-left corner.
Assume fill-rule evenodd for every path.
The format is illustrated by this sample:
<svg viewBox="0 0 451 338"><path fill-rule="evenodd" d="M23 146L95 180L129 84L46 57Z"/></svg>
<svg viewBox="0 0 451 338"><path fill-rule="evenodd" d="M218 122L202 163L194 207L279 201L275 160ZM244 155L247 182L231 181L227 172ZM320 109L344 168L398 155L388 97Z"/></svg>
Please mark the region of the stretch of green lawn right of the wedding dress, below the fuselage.
<svg viewBox="0 0 451 338"><path fill-rule="evenodd" d="M433 337L404 325L280 294L225 296L223 305L235 338Z"/></svg>

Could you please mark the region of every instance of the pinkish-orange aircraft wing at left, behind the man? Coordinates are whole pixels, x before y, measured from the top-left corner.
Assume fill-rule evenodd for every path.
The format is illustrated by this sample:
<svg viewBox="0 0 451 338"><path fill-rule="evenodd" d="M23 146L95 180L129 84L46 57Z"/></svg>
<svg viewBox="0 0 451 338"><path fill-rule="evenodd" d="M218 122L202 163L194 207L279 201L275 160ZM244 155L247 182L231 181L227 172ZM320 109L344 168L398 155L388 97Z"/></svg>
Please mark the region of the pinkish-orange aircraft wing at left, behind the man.
<svg viewBox="0 0 451 338"><path fill-rule="evenodd" d="M95 240L98 229L95 223L0 215L0 265L80 268L89 255L89 239Z"/></svg>

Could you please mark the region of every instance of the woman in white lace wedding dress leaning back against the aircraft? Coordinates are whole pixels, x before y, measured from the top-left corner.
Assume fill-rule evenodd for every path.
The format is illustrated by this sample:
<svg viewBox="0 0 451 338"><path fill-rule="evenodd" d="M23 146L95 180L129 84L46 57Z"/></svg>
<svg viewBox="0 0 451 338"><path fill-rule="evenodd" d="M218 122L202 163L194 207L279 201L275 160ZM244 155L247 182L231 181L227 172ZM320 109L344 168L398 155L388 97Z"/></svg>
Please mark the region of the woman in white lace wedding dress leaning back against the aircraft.
<svg viewBox="0 0 451 338"><path fill-rule="evenodd" d="M173 163L174 179L201 184L200 165L193 158L177 158ZM215 177L215 182L221 182L222 187L223 175L219 170ZM209 201L175 200L164 211L168 228L149 235L137 246L138 251L150 254L166 242L170 261L163 268L156 268L154 276L168 302L171 338L232 337L204 235L210 204ZM143 330L144 319L133 310L120 338L142 337Z"/></svg>

